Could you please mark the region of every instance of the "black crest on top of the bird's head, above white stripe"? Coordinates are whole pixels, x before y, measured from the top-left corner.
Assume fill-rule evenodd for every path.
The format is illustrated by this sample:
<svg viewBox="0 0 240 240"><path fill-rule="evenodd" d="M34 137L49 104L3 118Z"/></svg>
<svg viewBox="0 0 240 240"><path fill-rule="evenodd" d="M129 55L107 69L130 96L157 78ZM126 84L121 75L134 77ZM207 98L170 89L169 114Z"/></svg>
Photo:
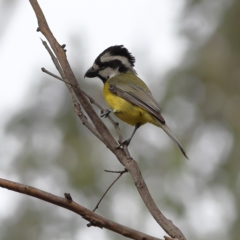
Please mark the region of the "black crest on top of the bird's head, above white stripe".
<svg viewBox="0 0 240 240"><path fill-rule="evenodd" d="M112 47L107 48L97 57L97 59L99 59L101 56L103 56L107 52L111 56L126 57L129 61L129 63L131 64L131 66L134 67L135 57L123 45L116 45L116 46L112 46Z"/></svg>

